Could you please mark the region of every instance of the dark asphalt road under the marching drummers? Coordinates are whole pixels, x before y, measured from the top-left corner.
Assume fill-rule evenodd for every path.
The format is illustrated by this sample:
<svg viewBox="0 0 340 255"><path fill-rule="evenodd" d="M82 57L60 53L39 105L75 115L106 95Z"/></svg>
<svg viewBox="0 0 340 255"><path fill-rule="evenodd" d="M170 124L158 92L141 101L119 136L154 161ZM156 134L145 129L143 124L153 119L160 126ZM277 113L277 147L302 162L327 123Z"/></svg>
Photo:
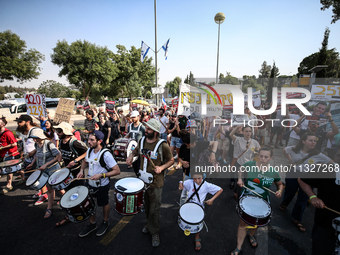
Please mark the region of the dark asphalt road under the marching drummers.
<svg viewBox="0 0 340 255"><path fill-rule="evenodd" d="M123 177L133 176L125 163L120 163L121 175L111 179L108 232L97 237L95 233L80 238L79 232L87 223L69 223L55 228L64 213L58 205L53 206L50 219L43 219L47 204L34 206L35 193L25 186L14 186L14 190L0 196L1 253L2 254L194 254L194 236L185 236L177 223L180 191L178 181L181 171L170 171L165 178L161 208L161 244L158 248L151 246L151 236L141 232L146 223L144 213L135 216L122 216L114 211L114 183ZM169 174L170 173L170 174ZM5 177L0 185L5 185ZM204 228L201 234L201 254L230 254L236 247L236 232L239 216L236 213L236 200L229 189L229 181L209 179L221 186L224 192L212 206L206 206ZM272 187L274 188L274 187ZM56 199L59 199L57 195ZM308 206L304 215L307 227L300 233L292 224L291 204L285 212L278 209L280 201L272 197L272 221L268 227L258 229L259 247L252 249L248 239L243 245L243 254L310 254L311 229L314 209ZM97 209L97 222L102 221L101 209Z"/></svg>

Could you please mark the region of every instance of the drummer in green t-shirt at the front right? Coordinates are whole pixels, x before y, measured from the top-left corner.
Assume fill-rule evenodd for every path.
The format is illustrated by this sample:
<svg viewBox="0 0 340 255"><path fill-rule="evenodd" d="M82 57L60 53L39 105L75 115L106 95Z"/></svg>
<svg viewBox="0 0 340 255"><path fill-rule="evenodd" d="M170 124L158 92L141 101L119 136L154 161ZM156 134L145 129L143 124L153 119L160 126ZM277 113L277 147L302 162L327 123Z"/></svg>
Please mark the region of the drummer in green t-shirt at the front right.
<svg viewBox="0 0 340 255"><path fill-rule="evenodd" d="M259 161L249 161L243 164L240 167L240 171L238 172L238 181L237 184L240 187L243 187L241 197L246 194L255 195L255 193L249 191L253 190L258 193L263 199L269 202L269 194L265 188L269 188L273 182L275 182L277 186L277 192L275 196L277 198L281 198L283 191L283 184L278 172L274 171L272 167L269 165L269 161L273 158L273 149L270 147L262 147L259 149ZM248 174L245 184L243 183L242 172L246 172ZM244 188L244 186L247 187ZM251 228L248 231L249 241L253 248L257 247L257 242L254 237L256 232L256 228ZM242 244L244 242L244 238L247 235L247 223L245 223L242 219L240 219L240 223L237 230L237 247L231 253L231 255L238 255L242 251Z"/></svg>

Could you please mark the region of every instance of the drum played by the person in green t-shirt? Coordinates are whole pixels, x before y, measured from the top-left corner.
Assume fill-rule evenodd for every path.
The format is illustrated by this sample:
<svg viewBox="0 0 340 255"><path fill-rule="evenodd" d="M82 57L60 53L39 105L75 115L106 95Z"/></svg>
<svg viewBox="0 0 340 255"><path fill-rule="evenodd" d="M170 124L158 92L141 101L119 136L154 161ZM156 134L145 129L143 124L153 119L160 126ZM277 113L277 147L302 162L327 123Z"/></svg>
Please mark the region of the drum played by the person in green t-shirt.
<svg viewBox="0 0 340 255"><path fill-rule="evenodd" d="M272 208L263 198L244 195L240 198L236 211L241 220L252 226L266 226L271 219Z"/></svg>

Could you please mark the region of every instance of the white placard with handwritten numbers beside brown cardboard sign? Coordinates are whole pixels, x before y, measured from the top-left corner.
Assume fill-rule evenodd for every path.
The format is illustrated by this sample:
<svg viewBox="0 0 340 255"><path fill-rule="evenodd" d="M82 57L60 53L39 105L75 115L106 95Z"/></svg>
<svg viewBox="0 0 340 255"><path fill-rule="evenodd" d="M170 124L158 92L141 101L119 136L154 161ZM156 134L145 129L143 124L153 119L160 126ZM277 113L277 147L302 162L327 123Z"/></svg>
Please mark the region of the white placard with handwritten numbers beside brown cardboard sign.
<svg viewBox="0 0 340 255"><path fill-rule="evenodd" d="M28 115L33 115L35 117L47 116L44 94L25 94L24 98Z"/></svg>

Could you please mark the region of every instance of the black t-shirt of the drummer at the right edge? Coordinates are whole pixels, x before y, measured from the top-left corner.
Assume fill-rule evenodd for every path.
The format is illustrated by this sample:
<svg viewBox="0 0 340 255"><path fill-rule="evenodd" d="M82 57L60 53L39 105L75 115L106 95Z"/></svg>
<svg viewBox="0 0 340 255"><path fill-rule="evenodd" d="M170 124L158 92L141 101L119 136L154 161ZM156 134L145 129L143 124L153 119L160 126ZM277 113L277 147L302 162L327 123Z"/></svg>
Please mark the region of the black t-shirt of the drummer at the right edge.
<svg viewBox="0 0 340 255"><path fill-rule="evenodd" d="M301 179L303 182L307 183L311 187L317 188L317 196L320 198L327 207L333 210L340 211L340 183L337 185L335 183L335 178L333 179ZM321 227L331 227L332 220L339 215L333 213L327 209L315 210L315 224Z"/></svg>

